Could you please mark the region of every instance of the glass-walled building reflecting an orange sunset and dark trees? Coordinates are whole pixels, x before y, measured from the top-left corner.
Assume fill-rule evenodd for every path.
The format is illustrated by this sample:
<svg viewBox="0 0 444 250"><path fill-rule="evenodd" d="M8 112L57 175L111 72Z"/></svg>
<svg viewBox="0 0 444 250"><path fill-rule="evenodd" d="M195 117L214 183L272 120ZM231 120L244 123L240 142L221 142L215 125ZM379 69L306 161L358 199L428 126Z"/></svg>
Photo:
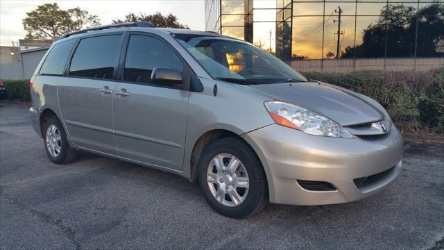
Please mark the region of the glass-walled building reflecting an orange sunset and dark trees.
<svg viewBox="0 0 444 250"><path fill-rule="evenodd" d="M205 28L305 71L444 65L444 0L205 0Z"/></svg>

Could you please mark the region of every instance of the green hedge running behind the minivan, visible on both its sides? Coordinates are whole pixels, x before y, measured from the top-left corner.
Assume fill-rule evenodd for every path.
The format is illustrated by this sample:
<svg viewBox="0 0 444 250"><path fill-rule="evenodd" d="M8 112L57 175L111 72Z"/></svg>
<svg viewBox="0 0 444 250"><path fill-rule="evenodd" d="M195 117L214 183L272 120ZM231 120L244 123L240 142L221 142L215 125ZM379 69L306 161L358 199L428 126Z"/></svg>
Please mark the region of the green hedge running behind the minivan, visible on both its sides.
<svg viewBox="0 0 444 250"><path fill-rule="evenodd" d="M444 67L429 72L303 73L371 97L386 108L404 133L444 132ZM28 80L2 80L8 99L29 101Z"/></svg>

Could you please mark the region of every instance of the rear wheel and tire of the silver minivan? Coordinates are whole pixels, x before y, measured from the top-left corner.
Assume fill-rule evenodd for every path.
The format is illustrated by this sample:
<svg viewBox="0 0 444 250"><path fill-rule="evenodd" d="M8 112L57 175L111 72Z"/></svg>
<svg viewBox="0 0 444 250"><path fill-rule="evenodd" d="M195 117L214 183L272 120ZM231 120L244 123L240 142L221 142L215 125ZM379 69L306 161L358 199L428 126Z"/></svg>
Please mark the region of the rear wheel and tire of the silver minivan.
<svg viewBox="0 0 444 250"><path fill-rule="evenodd" d="M57 117L51 117L43 125L44 148L49 160L57 164L71 163L76 160L77 151L76 149L69 147L67 134L65 133L65 129L63 128L60 120ZM53 130L49 132L51 129ZM52 136L52 134L54 136ZM60 141L58 138L60 138ZM51 147L51 145L54 147Z"/></svg>

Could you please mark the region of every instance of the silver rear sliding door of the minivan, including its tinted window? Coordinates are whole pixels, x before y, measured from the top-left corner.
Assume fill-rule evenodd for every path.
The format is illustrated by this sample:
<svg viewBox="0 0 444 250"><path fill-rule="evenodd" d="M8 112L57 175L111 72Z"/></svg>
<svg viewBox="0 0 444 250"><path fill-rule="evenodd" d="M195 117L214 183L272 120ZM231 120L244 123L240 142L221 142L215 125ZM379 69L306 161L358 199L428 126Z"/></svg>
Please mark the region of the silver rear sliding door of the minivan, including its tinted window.
<svg viewBox="0 0 444 250"><path fill-rule="evenodd" d="M112 80L122 35L80 40L68 77L58 85L58 101L71 140L79 147L116 153L112 126Z"/></svg>

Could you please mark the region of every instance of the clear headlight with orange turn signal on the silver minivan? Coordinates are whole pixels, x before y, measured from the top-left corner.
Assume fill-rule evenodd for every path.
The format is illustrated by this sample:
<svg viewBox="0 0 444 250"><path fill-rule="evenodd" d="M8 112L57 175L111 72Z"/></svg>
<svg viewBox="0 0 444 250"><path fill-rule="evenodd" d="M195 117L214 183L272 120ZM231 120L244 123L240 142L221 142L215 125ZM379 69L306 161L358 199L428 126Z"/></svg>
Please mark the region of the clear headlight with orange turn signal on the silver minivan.
<svg viewBox="0 0 444 250"><path fill-rule="evenodd" d="M295 128L310 135L353 138L341 125L306 108L282 101L266 101L265 107L277 124Z"/></svg>

